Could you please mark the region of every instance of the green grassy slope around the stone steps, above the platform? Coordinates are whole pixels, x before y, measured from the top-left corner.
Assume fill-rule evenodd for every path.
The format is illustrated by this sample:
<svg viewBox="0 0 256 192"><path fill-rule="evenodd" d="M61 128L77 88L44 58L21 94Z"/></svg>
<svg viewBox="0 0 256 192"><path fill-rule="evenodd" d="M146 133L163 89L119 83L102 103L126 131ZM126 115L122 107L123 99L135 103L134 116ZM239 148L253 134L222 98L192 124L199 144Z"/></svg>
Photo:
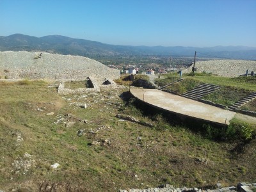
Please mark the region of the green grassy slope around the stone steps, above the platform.
<svg viewBox="0 0 256 192"><path fill-rule="evenodd" d="M161 79L156 79L156 84L159 86L166 86L167 89L172 90L177 94L182 94L188 90L195 88L201 83L210 83L223 86L220 90L206 95L203 99L211 100L212 102L223 104L225 106L231 106L238 100L246 97L249 93L256 92L256 76L248 77L220 77L207 73L196 73L194 77L191 74L184 74L183 81L180 83L172 83L179 79L178 74L168 74ZM248 104L242 106L241 109L256 111L255 100L252 100Z"/></svg>

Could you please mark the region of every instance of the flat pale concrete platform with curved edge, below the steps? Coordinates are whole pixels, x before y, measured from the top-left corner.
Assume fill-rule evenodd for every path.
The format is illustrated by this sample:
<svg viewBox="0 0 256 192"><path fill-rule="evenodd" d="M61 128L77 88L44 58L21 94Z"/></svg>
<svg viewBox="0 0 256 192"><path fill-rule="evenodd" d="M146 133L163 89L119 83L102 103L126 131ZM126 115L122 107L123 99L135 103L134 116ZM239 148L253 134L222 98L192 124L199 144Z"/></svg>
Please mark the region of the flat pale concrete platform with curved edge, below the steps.
<svg viewBox="0 0 256 192"><path fill-rule="evenodd" d="M130 92L137 99L157 108L217 124L229 125L230 120L236 115L233 111L216 108L160 90L131 88Z"/></svg>

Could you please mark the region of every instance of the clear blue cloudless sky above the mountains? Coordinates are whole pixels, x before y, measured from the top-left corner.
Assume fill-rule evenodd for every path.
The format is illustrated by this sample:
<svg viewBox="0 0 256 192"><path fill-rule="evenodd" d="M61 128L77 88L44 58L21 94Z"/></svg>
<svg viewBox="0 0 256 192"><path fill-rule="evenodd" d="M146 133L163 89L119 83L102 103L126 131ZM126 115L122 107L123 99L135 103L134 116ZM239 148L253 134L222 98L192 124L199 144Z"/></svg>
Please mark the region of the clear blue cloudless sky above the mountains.
<svg viewBox="0 0 256 192"><path fill-rule="evenodd" d="M0 0L0 36L256 47L256 0Z"/></svg>

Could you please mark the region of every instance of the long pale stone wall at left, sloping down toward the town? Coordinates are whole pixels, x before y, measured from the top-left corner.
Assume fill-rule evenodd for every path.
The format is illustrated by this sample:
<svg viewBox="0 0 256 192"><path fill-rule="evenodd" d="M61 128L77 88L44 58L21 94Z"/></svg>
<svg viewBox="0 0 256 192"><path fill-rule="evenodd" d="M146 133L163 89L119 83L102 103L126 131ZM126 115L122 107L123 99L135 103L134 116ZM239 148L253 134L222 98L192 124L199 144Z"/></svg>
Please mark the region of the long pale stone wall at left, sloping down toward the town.
<svg viewBox="0 0 256 192"><path fill-rule="evenodd" d="M82 56L47 52L0 52L1 79L119 79L120 70Z"/></svg>

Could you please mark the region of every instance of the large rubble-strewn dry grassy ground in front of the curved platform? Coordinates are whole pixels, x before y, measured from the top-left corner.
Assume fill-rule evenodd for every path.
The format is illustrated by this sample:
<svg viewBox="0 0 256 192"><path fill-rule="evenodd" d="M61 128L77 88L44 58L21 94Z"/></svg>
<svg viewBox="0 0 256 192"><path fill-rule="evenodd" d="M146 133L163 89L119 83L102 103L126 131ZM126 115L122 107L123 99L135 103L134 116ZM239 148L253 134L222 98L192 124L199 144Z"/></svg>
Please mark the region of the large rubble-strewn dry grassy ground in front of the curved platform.
<svg viewBox="0 0 256 192"><path fill-rule="evenodd" d="M159 111L147 113L128 88L62 97L48 84L0 82L1 190L214 188L218 181L255 181L255 138L211 140L198 131L214 130L211 125L191 129ZM153 127L120 120L118 113ZM51 168L54 163L60 166Z"/></svg>

